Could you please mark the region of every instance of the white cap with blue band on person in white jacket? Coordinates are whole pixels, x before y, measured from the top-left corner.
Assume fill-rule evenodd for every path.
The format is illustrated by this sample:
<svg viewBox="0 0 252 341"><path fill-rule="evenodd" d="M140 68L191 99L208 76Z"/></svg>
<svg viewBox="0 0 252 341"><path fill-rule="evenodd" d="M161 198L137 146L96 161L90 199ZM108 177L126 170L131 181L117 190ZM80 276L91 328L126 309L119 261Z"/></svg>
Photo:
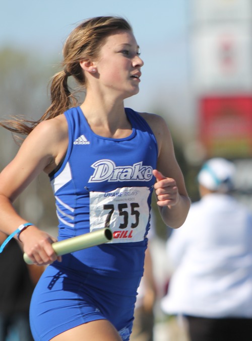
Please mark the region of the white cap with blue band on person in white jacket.
<svg viewBox="0 0 252 341"><path fill-rule="evenodd" d="M228 192L233 188L235 166L223 158L208 160L198 175L198 181L210 190Z"/></svg>

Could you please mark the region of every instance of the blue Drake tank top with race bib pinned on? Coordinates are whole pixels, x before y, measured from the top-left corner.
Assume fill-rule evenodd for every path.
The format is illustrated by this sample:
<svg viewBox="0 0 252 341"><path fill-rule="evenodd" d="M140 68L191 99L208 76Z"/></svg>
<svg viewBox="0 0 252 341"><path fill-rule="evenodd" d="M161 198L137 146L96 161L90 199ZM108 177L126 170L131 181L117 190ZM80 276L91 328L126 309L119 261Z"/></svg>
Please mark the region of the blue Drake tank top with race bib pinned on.
<svg viewBox="0 0 252 341"><path fill-rule="evenodd" d="M134 110L125 108L125 113L131 135L112 139L95 134L80 107L66 111L69 146L64 162L50 175L58 240L105 226L113 232L111 242L63 257L62 265L117 278L143 274L157 163L150 126Z"/></svg>

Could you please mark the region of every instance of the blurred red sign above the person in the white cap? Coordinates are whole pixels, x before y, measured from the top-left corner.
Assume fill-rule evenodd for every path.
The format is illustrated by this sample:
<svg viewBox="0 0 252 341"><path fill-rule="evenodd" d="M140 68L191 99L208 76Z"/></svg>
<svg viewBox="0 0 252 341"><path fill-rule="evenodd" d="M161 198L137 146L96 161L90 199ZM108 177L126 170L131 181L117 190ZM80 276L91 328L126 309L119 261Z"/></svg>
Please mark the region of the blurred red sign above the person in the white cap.
<svg viewBox="0 0 252 341"><path fill-rule="evenodd" d="M252 96L203 97L200 139L208 157L252 156Z"/></svg>

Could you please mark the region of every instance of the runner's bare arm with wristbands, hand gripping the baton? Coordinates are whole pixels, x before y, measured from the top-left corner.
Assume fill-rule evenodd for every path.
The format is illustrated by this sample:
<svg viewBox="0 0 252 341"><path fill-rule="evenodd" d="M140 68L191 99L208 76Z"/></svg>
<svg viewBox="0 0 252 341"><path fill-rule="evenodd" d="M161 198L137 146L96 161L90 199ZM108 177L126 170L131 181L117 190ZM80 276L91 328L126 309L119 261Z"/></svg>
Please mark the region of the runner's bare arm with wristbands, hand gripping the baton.
<svg viewBox="0 0 252 341"><path fill-rule="evenodd" d="M25 223L14 209L18 195L42 171L49 173L65 154L68 144L64 118L40 123L25 139L13 161L0 174L0 230L11 234ZM35 263L45 264L56 259L51 247L54 238L29 226L20 234L24 250Z"/></svg>

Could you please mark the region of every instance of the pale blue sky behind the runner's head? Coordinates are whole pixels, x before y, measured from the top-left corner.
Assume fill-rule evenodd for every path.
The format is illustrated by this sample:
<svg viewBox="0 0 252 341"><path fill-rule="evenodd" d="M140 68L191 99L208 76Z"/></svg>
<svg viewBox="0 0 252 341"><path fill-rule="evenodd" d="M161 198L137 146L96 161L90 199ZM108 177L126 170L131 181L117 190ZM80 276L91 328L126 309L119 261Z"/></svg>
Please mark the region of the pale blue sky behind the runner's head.
<svg viewBox="0 0 252 341"><path fill-rule="evenodd" d="M138 111L161 108L186 129L194 119L188 58L190 2L1 0L0 48L11 45L60 61L62 45L79 22L94 16L123 16L133 26L145 62L140 93L125 106Z"/></svg>

